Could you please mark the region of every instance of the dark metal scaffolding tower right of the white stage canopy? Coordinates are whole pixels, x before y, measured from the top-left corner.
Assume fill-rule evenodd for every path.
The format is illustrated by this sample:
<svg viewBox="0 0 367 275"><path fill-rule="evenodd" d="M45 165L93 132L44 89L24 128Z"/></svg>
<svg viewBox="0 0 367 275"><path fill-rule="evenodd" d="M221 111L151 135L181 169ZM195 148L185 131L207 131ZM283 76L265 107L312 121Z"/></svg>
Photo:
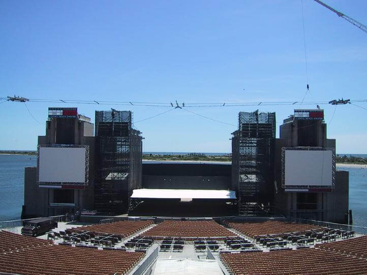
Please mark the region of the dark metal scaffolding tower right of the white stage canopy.
<svg viewBox="0 0 367 275"><path fill-rule="evenodd" d="M232 188L238 215L269 215L273 205L275 113L240 112L232 133Z"/></svg>

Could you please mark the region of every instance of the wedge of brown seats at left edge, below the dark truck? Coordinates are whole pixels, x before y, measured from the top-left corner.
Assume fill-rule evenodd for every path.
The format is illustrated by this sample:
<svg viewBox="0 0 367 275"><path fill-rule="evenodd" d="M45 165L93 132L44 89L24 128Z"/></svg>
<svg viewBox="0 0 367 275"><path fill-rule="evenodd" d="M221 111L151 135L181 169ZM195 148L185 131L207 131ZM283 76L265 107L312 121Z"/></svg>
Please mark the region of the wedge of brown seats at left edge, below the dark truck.
<svg viewBox="0 0 367 275"><path fill-rule="evenodd" d="M25 248L50 245L49 240L14 234L5 230L0 231L0 253L17 251Z"/></svg>

